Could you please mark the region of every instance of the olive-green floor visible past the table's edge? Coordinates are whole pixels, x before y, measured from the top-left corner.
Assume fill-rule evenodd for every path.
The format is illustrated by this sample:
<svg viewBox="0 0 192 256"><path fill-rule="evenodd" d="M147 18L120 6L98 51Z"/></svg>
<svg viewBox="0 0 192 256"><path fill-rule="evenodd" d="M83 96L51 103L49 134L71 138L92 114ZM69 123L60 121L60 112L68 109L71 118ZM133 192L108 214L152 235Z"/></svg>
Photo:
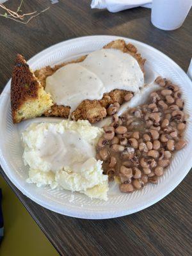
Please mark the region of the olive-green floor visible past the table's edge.
<svg viewBox="0 0 192 256"><path fill-rule="evenodd" d="M3 191L4 239L1 256L54 256L58 253L0 176Z"/></svg>

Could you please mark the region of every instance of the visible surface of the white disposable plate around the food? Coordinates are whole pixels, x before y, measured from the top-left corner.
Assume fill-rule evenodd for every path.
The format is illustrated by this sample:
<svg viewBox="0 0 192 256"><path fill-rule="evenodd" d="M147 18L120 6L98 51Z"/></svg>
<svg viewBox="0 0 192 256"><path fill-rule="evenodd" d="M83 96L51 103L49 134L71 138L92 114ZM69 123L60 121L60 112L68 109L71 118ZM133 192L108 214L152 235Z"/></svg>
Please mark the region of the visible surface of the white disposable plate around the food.
<svg viewBox="0 0 192 256"><path fill-rule="evenodd" d="M67 40L36 54L28 63L33 70L46 65L54 65L100 49L111 40L118 38L120 37L86 36ZM129 38L122 39L136 45L138 51L147 59L146 67L152 68L163 77L179 84L185 100L186 112L190 113L190 109L192 109L192 85L184 71L170 58L153 47ZM28 167L24 166L22 162L23 150L20 143L20 129L24 129L31 120L13 125L10 110L10 81L6 84L1 94L0 120L1 166L8 178L24 195L37 204L68 216L104 219L124 216L145 209L168 195L184 179L192 166L192 143L190 143L192 140L192 124L190 118L186 128L187 146L177 152L168 170L159 179L158 185L148 184L140 191L123 194L118 189L113 188L112 184L107 202L91 200L85 195L80 193L72 194L70 191L51 190L48 187L36 188L34 184L26 183ZM47 120L47 118L36 118L32 122L36 122L36 120L39 122ZM49 118L48 120L55 119Z"/></svg>

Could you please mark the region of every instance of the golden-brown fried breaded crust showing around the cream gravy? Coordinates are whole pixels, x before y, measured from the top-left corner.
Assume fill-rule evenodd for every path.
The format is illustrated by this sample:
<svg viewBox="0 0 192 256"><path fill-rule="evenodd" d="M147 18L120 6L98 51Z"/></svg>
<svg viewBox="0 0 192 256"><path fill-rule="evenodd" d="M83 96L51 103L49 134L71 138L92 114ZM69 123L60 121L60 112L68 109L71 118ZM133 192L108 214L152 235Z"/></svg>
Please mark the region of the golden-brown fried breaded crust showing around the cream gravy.
<svg viewBox="0 0 192 256"><path fill-rule="evenodd" d="M126 44L124 40L115 40L110 42L109 44L103 47L104 49L118 49L122 52L127 52L131 54L138 61L141 70L144 72L143 66L145 63L145 59L141 58L141 54L137 53L136 47L132 44ZM86 56L83 56L75 61L70 61L68 63L78 63L83 61ZM58 70L59 68L67 65L68 63L62 63L60 65L56 65L54 67L45 67L40 70L35 71L35 76L38 78L40 83L45 88L45 80L48 76L51 76ZM74 120L89 120L90 123L98 122L102 120L107 115L107 108L110 104L118 102L122 104L125 100L125 95L129 93L125 90L113 90L109 93L104 93L101 100L83 100L81 104L77 107L77 109L72 113L72 119ZM51 109L45 111L45 116L61 116L63 118L67 118L70 113L69 106L58 106L54 104Z"/></svg>

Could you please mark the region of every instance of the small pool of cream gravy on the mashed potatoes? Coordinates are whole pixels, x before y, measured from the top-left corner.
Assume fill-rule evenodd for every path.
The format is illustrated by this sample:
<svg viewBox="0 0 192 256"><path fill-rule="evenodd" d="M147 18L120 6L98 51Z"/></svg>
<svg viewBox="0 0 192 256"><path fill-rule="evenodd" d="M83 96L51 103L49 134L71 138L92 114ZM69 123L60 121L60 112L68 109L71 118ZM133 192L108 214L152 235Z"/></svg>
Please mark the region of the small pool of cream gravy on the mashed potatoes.
<svg viewBox="0 0 192 256"><path fill-rule="evenodd" d="M81 138L78 132L70 130L59 133L48 129L37 150L39 157L51 163L53 172L64 167L79 172L85 161L95 157L95 147Z"/></svg>

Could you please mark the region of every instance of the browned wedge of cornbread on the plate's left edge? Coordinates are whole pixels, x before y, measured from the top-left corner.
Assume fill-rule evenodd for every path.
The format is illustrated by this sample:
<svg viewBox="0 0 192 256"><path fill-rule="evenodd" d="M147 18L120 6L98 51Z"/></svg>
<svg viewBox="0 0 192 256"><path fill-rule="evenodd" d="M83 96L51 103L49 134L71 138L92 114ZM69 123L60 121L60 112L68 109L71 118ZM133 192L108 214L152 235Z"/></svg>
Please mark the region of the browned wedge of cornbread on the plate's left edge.
<svg viewBox="0 0 192 256"><path fill-rule="evenodd" d="M17 54L11 83L13 123L41 116L52 105L51 95L45 92L24 57Z"/></svg>

